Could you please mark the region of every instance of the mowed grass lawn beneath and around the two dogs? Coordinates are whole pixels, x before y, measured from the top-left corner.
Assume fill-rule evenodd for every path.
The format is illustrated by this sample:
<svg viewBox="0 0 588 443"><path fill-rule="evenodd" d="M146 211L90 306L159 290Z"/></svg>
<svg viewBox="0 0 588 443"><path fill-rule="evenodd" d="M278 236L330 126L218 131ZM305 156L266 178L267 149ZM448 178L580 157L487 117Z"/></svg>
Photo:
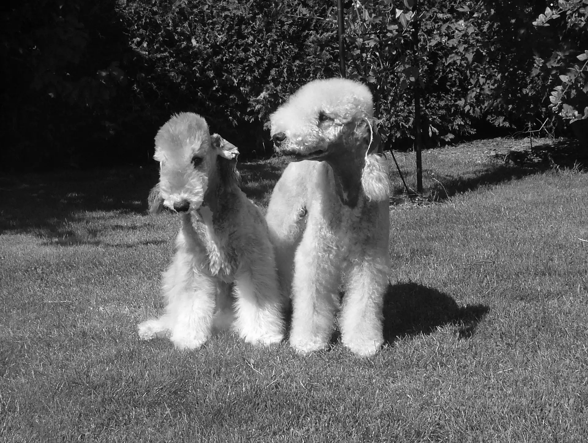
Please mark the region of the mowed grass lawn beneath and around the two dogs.
<svg viewBox="0 0 588 443"><path fill-rule="evenodd" d="M588 174L505 166L504 144L424 152L433 204L390 161L369 359L336 334L306 356L141 342L179 227L145 213L155 168L0 179L0 441L586 441ZM267 204L284 165L240 164L243 189Z"/></svg>

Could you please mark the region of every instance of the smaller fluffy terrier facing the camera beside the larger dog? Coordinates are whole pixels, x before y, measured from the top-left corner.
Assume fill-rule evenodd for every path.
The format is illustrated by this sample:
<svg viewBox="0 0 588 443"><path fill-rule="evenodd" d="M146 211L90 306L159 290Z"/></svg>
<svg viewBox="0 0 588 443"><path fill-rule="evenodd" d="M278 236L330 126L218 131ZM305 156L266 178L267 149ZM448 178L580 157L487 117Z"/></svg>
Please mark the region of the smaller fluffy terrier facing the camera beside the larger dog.
<svg viewBox="0 0 588 443"><path fill-rule="evenodd" d="M139 324L142 339L169 337L179 349L199 348L213 326L230 318L253 344L282 341L285 297L279 289L268 225L239 188L236 146L210 135L198 114L173 116L155 137L158 185L152 211L179 214L176 254L163 274L165 314ZM229 309L227 309L229 308Z"/></svg>

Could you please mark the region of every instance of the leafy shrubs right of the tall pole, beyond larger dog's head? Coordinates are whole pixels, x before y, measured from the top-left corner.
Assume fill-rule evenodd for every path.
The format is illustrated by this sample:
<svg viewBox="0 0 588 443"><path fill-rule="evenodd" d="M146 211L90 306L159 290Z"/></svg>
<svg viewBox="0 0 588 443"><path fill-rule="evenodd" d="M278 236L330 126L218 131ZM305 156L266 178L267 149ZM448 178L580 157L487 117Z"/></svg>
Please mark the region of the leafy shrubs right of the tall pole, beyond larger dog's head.
<svg viewBox="0 0 588 443"><path fill-rule="evenodd" d="M372 86L382 126L396 141L412 138L416 79L429 140L463 138L483 126L540 126L551 117L549 75L537 71L536 54L553 51L560 35L536 31L541 8L534 0L355 1L348 10L350 76Z"/></svg>

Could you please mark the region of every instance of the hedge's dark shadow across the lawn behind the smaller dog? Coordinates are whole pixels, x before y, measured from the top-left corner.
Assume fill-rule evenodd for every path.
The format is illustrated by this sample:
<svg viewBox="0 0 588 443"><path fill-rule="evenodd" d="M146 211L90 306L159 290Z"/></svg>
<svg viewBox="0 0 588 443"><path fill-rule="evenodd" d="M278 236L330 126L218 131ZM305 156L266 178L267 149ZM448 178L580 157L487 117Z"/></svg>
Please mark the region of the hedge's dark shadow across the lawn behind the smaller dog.
<svg viewBox="0 0 588 443"><path fill-rule="evenodd" d="M245 194L263 204L287 163L238 164ZM81 214L86 211L118 212L113 216L146 214L147 196L158 179L156 165L0 176L4 201L0 234L35 231L44 237L63 238L65 244L92 242L91 233L66 232L64 224L88 219Z"/></svg>

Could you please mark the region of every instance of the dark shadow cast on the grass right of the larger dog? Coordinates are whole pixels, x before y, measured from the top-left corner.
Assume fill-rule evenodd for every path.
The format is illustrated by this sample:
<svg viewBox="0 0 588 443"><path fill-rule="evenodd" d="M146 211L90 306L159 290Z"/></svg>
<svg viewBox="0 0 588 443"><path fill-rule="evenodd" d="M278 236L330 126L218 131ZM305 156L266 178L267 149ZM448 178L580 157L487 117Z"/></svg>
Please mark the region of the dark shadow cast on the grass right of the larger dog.
<svg viewBox="0 0 588 443"><path fill-rule="evenodd" d="M470 338L489 311L485 305L460 307L449 295L417 283L388 285L384 299L384 339L430 334L455 325L459 338Z"/></svg>

